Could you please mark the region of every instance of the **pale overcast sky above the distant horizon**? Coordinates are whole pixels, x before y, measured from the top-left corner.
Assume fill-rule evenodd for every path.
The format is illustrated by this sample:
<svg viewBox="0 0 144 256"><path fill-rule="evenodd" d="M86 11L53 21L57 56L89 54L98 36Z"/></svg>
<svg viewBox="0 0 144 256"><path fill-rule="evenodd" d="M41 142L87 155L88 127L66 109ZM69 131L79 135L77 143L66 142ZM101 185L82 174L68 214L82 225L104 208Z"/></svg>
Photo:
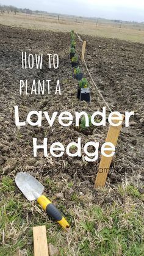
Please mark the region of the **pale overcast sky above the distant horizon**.
<svg viewBox="0 0 144 256"><path fill-rule="evenodd" d="M0 0L0 3L46 12L144 21L144 0Z"/></svg>

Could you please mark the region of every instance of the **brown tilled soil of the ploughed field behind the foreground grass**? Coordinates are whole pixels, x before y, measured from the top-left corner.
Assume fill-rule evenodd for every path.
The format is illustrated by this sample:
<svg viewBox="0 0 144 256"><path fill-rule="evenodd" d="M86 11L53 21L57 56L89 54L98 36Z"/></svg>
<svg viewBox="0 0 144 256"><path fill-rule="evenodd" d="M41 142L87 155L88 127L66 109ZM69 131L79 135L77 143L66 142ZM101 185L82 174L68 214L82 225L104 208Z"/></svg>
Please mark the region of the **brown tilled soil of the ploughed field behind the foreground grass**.
<svg viewBox="0 0 144 256"><path fill-rule="evenodd" d="M43 120L42 128L15 126L14 106L20 108L21 120L26 119L29 111L86 111L93 113L103 108L105 104L98 95L90 78L81 64L85 77L90 81L92 88L92 101L90 104L77 101L77 82L73 78L70 64L70 34L63 32L32 31L29 29L0 26L0 165L1 176L15 177L16 172L26 170L38 177L38 172L43 177L68 174L70 177L82 181L88 180L88 185L93 188L99 158L96 163L85 163L82 158L70 158L66 154L62 158L33 157L32 137L37 137L42 142L43 137L48 137L48 147L53 142L62 142L66 147L71 141L82 137L82 144L88 141L97 141L102 145L106 139L106 128L95 128L92 135L79 133L73 127L62 128L54 123L48 127ZM110 186L121 183L123 178L133 178L139 183L144 180L143 175L143 82L144 82L144 50L140 43L131 43L116 39L94 38L82 35L87 40L85 60L92 73L93 79L99 87L107 103L113 111L135 111L131 118L131 126L123 127L117 146L117 153L113 158L112 167L115 173L110 174L107 183ZM76 50L81 54L81 42L77 40ZM44 68L42 70L23 70L21 68L21 51L32 54L44 54ZM46 62L46 53L57 53L60 58L58 70L49 70ZM20 79L51 79L50 95L20 96ZM54 95L56 81L60 79L62 95ZM107 109L107 114L109 110ZM131 172L125 173L126 168ZM53 172L56 170L56 173Z"/></svg>

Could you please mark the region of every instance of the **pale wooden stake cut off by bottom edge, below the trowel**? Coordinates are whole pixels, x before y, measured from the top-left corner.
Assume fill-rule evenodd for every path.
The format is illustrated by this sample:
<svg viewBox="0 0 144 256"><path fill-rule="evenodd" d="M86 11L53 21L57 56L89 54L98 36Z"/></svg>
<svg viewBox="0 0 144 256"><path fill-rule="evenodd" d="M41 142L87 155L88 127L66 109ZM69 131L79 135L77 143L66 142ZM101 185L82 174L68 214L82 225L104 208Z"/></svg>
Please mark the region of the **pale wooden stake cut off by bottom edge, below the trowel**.
<svg viewBox="0 0 144 256"><path fill-rule="evenodd" d="M48 243L46 238L46 226L33 227L34 255L48 256Z"/></svg>

